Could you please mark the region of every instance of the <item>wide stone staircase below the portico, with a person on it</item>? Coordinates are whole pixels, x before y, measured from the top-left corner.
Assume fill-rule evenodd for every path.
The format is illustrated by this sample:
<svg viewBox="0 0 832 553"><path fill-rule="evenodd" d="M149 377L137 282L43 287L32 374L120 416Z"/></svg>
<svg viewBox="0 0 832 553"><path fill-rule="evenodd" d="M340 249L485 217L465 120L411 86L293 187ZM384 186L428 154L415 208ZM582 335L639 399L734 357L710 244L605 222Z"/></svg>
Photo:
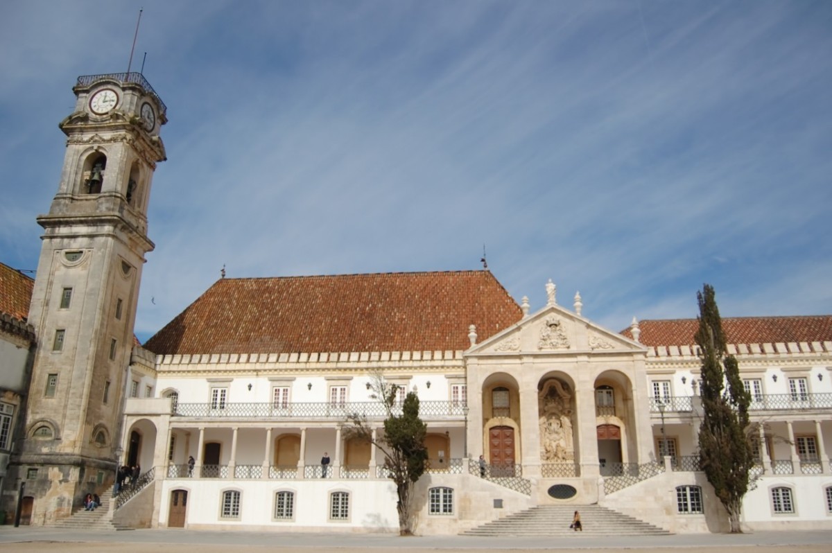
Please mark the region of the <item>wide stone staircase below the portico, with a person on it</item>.
<svg viewBox="0 0 832 553"><path fill-rule="evenodd" d="M575 511L583 532L569 528ZM541 505L462 532L462 536L668 536L670 532L598 505Z"/></svg>

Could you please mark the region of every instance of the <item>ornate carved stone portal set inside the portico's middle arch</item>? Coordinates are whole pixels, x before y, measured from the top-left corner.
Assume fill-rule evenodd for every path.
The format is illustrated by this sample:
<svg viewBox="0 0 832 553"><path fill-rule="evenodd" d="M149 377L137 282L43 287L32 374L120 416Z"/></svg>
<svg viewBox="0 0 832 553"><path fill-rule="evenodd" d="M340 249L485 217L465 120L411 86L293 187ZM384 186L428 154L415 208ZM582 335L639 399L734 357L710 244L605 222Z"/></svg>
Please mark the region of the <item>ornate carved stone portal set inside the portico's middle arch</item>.
<svg viewBox="0 0 832 553"><path fill-rule="evenodd" d="M537 393L540 425L540 458L542 462L575 460L572 439L572 390L556 378L543 383Z"/></svg>

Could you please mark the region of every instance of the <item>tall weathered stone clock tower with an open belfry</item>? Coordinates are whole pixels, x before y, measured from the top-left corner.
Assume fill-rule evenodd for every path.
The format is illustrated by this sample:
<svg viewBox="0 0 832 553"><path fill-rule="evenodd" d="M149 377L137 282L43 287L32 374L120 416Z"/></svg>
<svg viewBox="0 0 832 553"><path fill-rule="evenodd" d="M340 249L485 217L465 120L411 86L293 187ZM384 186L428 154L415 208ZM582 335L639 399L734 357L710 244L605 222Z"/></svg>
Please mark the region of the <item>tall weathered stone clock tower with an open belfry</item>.
<svg viewBox="0 0 832 553"><path fill-rule="evenodd" d="M32 524L69 516L115 476L125 375L166 107L141 73L79 77L29 323L37 352L17 482ZM9 475L12 476L12 475ZM12 476L13 477L13 476ZM11 480L11 479L10 479ZM25 506L25 503L24 503Z"/></svg>

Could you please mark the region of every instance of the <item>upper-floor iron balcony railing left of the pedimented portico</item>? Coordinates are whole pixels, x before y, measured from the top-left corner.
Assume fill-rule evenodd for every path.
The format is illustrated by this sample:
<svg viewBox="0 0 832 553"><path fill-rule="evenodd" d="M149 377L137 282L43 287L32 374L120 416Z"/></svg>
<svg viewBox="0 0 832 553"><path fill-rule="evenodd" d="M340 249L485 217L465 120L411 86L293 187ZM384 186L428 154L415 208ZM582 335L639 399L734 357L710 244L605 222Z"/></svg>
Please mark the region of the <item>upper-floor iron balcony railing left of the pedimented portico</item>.
<svg viewBox="0 0 832 553"><path fill-rule="evenodd" d="M379 402L286 402L286 403L182 403L172 406L174 415L180 417L210 418L269 418L269 419L344 419L361 416L386 418L384 405ZM418 414L423 418L465 416L466 407L460 402L419 402ZM396 405L394 415L402 414L402 406Z"/></svg>

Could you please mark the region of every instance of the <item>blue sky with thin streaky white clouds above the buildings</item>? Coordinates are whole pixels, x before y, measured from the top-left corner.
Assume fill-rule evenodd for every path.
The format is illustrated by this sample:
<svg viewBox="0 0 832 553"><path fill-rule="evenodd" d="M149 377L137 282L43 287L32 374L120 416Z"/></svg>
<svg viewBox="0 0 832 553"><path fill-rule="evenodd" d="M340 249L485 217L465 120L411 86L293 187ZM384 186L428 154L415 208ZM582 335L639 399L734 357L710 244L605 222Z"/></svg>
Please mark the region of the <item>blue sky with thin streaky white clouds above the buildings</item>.
<svg viewBox="0 0 832 553"><path fill-rule="evenodd" d="M832 2L0 4L0 261L79 75L168 107L136 334L220 277L479 269L583 314L832 313ZM153 302L151 302L153 299ZM464 322L463 322L464 323Z"/></svg>

